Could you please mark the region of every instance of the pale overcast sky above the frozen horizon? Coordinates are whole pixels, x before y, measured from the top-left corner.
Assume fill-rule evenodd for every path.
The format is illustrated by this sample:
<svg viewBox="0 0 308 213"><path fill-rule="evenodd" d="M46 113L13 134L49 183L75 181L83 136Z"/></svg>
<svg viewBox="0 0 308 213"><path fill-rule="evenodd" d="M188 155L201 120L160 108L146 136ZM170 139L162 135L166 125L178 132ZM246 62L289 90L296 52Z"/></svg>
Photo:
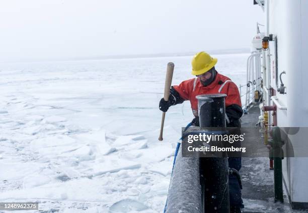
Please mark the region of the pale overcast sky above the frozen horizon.
<svg viewBox="0 0 308 213"><path fill-rule="evenodd" d="M0 3L0 61L248 48L252 0L27 0Z"/></svg>

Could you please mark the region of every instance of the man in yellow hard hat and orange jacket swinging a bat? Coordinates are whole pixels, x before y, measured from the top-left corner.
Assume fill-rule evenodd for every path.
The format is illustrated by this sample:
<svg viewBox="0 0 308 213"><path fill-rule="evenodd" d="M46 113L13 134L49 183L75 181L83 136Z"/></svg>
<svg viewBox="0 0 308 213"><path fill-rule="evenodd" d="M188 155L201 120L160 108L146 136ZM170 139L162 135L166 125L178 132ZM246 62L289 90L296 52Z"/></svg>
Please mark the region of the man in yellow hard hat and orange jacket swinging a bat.
<svg viewBox="0 0 308 213"><path fill-rule="evenodd" d="M206 52L197 53L192 60L192 74L196 78L185 80L170 89L169 100L160 101L160 110L167 112L172 105L189 100L194 119L192 125L199 126L197 95L223 93L225 97L225 113L227 127L241 127L240 118L243 115L241 96L237 85L230 78L218 73L215 69L216 58ZM230 168L241 169L241 158L228 158ZM241 212L244 207L242 192L238 180L229 175L230 212Z"/></svg>

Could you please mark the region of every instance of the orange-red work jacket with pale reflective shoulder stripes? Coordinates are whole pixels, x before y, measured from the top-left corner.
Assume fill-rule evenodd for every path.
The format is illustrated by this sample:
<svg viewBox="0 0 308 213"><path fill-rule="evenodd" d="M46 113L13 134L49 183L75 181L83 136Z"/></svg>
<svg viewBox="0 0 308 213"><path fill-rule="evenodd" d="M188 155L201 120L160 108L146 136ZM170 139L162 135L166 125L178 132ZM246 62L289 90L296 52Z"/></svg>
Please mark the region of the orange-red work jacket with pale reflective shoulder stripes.
<svg viewBox="0 0 308 213"><path fill-rule="evenodd" d="M237 85L230 78L217 72L215 80L207 86L201 84L198 78L185 80L178 86L173 86L184 100L190 100L194 116L198 116L197 95L224 93L225 107L238 104L242 108L241 96Z"/></svg>

